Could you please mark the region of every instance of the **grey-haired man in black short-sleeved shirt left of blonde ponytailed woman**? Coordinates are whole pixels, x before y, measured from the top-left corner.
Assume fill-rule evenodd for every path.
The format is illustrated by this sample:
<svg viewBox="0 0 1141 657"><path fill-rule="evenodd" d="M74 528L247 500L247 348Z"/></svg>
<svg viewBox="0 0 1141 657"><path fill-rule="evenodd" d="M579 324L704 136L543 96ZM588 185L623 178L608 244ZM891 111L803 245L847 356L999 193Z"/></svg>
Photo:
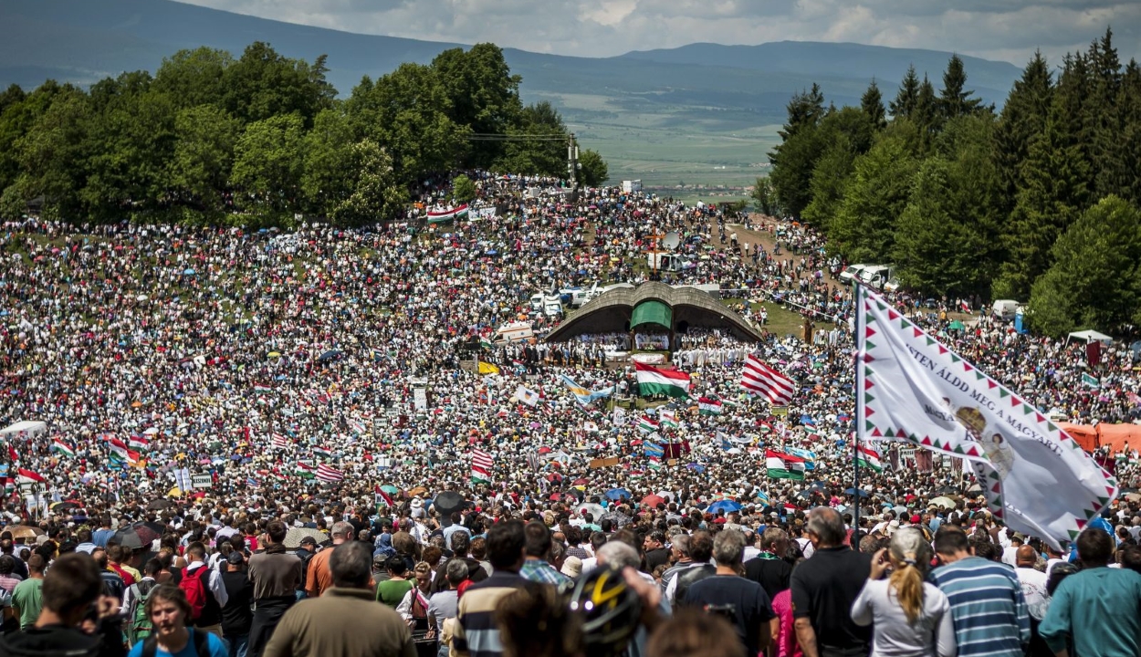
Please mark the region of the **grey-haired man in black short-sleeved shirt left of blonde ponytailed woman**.
<svg viewBox="0 0 1141 657"><path fill-rule="evenodd" d="M806 534L812 557L793 570L790 581L801 650L806 657L867 654L871 632L852 620L851 608L872 573L871 557L844 545L843 519L834 509L812 509Z"/></svg>

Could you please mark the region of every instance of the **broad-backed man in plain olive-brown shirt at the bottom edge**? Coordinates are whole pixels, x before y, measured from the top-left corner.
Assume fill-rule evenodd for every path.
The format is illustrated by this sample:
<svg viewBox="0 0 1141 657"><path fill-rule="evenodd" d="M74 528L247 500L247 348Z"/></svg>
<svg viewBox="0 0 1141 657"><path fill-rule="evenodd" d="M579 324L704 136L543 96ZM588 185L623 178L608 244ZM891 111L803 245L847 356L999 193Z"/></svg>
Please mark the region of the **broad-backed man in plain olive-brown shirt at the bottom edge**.
<svg viewBox="0 0 1141 657"><path fill-rule="evenodd" d="M348 541L331 550L333 585L290 608L266 646L266 657L415 657L408 626L373 602L372 549Z"/></svg>

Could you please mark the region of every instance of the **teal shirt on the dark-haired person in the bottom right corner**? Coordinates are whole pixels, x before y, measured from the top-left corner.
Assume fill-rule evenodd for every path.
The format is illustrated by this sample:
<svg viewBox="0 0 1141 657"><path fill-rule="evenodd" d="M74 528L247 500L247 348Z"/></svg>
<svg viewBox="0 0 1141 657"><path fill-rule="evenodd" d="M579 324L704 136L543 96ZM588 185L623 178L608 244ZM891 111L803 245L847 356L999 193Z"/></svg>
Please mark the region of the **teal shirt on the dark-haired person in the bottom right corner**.
<svg viewBox="0 0 1141 657"><path fill-rule="evenodd" d="M1141 655L1141 575L1124 568L1090 568L1058 585L1038 633L1054 652L1074 641L1073 655Z"/></svg>

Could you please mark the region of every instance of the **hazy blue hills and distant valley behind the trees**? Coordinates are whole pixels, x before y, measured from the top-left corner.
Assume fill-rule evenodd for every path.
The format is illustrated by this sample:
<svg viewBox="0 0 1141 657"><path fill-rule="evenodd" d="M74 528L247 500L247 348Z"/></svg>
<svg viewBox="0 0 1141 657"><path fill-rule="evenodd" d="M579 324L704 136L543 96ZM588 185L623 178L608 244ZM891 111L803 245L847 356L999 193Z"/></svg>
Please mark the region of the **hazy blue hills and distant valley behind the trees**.
<svg viewBox="0 0 1141 657"><path fill-rule="evenodd" d="M458 43L353 34L170 0L0 0L0 84L32 88L48 78L90 84L122 71L154 71L183 48L235 56L266 41L289 57L329 55L329 81L343 96L363 75L403 62L428 63ZM745 185L763 169L790 96L812 82L836 105L855 103L875 78L895 95L908 64L938 82L949 52L856 43L694 43L586 58L505 49L527 102L551 100L615 179L648 186ZM1001 103L1019 68L964 58L970 87Z"/></svg>

